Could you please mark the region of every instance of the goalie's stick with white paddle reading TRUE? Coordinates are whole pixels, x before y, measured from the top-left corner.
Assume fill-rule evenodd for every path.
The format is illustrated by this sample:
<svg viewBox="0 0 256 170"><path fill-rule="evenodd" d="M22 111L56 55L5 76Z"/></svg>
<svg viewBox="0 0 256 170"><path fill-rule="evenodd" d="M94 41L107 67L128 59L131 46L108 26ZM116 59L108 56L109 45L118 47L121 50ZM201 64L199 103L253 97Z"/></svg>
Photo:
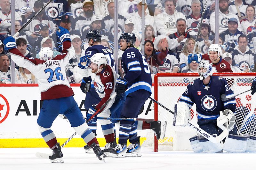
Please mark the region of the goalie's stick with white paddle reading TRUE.
<svg viewBox="0 0 256 170"><path fill-rule="evenodd" d="M155 103L157 103L159 106L163 107L164 109L166 109L167 111L169 111L170 113L174 114L174 112L170 109L168 109L167 107L165 107L164 105L162 105L161 103L159 103L158 101L156 101L155 99L152 99L151 97L149 97L149 99L153 100ZM209 133L207 133L206 131L204 131L203 129L199 128L197 123L193 123L193 122L188 122L188 125L190 128L196 130L196 132L200 135L202 135L203 137L207 138L209 141L211 141L212 143L216 144L219 143L220 141L222 141L225 137L228 136L228 129L225 129L219 136L217 137L213 137L212 135L210 135Z"/></svg>

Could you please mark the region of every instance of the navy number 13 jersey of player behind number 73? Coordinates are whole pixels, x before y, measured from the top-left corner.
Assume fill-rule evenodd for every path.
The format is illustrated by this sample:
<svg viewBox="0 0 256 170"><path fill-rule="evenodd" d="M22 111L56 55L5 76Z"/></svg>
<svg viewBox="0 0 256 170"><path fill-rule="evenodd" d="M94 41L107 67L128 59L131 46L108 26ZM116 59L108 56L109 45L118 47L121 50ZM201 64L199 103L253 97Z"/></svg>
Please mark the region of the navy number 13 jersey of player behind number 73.
<svg viewBox="0 0 256 170"><path fill-rule="evenodd" d="M104 47L103 45L94 45L94 46L88 47L85 50L84 55L92 56L96 53L105 54L108 58L108 65L110 65L111 67L113 67L115 69L116 63L115 63L115 60L114 60L114 55L108 47Z"/></svg>

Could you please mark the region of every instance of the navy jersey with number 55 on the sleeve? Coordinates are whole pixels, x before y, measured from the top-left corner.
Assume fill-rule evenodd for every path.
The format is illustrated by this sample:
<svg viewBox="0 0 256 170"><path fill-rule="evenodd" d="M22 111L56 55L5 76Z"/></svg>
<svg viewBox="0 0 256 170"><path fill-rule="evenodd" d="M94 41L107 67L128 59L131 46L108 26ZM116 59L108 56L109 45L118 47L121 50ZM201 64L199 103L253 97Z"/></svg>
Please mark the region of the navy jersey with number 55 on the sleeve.
<svg viewBox="0 0 256 170"><path fill-rule="evenodd" d="M127 48L122 55L122 71L128 81L126 95L140 89L151 92L151 75L144 55L137 48Z"/></svg>

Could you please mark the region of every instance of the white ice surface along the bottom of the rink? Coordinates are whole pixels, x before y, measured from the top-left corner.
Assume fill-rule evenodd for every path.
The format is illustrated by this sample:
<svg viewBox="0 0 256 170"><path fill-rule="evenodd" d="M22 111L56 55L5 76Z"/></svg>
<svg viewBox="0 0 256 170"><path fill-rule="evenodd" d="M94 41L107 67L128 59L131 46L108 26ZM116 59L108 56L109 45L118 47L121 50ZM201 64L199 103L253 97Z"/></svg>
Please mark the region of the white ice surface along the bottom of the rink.
<svg viewBox="0 0 256 170"><path fill-rule="evenodd" d="M64 163L53 164L37 158L36 152L51 153L49 148L1 148L1 170L243 170L255 169L256 153L194 153L192 151L160 151L142 148L139 158L106 158L106 163L83 148L62 148Z"/></svg>

